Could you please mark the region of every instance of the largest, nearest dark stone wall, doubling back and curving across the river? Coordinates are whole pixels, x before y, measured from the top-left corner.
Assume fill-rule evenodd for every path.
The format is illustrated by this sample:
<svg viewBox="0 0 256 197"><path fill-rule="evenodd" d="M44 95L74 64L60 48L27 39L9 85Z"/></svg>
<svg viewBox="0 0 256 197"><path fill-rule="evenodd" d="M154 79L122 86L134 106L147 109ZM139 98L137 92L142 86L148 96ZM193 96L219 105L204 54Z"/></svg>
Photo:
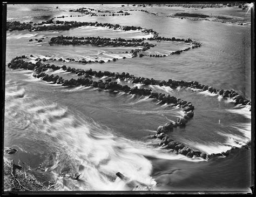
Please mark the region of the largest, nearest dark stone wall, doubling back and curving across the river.
<svg viewBox="0 0 256 197"><path fill-rule="evenodd" d="M173 130L173 127L177 126L185 126L187 121L190 120L194 116L194 106L192 105L191 102L187 102L182 99L177 99L173 96L165 96L163 93L158 93L158 92L151 92L152 90L150 89L144 89L138 87L129 87L127 85L120 85L117 84L116 81L111 81L111 79L106 79L105 82L103 80L98 80L98 81L93 81L90 80L90 76L95 76L95 77L113 77L113 79L120 79L120 80L131 80L132 83L140 83L144 85L159 85L159 86L170 86L172 89L177 88L178 86L185 86L185 87L193 87L194 89L202 89L202 90L208 90L211 93L219 94L222 95L223 97L226 98L232 98L235 101L235 104L242 104L242 105L248 105L251 106L251 101L244 99L242 96L237 94L234 91L228 91L228 90L217 90L214 89L213 87L208 87L206 85L201 85L197 81L175 81L172 79L169 79L168 81L165 80L155 80L153 78L144 78L144 77L134 77L132 74L125 73L123 72L122 74L119 73L112 73L110 71L92 71L86 70L84 71L83 69L75 69L71 67L66 67L65 65L63 66L55 66L54 64L43 64L41 59L36 62L36 64L33 64L31 62L25 62L23 59L24 58L29 58L26 57L25 55L23 56L17 56L14 59L11 60L10 63L8 63L8 67L11 69L26 69L26 70L33 70L33 77L41 77L42 80L48 81L48 82L53 82L57 84L62 84L62 86L93 86L93 87L98 87L99 89L102 90L110 90L110 91L123 91L128 94L137 94L139 96L149 96L149 98L154 98L158 99L159 103L158 104L173 104L173 106L178 106L183 108L183 111L185 112L184 116L181 118L178 118L176 121L173 121L174 123L168 122L163 126L159 126L157 129L157 134L156 135L151 135L151 138L158 138L161 139L161 142L159 145L165 145L165 148L171 149L173 153L176 154L183 154L186 155L189 158L192 157L201 157L203 159L210 159L213 157L223 157L229 155L232 150L237 149L238 147L232 147L230 150L226 152L221 152L217 154L205 154L201 153L200 151L194 151L189 147L186 147L185 145L176 142L169 138L166 132L171 132ZM43 71L52 69L52 70L59 70L62 69L67 72L71 73L76 73L78 76L83 76L82 78L76 79L70 79L70 80L65 80L62 77L54 76L51 74L50 76ZM247 142L246 145L242 145L242 148L249 149L249 146L251 145L251 141Z"/></svg>

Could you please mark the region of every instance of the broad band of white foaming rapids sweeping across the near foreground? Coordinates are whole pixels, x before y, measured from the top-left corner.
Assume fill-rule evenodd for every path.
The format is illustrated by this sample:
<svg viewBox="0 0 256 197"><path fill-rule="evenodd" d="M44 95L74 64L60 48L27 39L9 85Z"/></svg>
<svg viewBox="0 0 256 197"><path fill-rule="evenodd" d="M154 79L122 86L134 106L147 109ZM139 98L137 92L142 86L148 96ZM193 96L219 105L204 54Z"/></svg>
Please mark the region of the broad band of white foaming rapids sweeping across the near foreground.
<svg viewBox="0 0 256 197"><path fill-rule="evenodd" d="M24 137L43 140L56 148L61 147L61 150L65 150L65 154L70 155L72 159L68 162L72 163L74 169L81 174L80 181L75 184L77 186L75 190L130 190L131 188L127 187L124 181L116 178L117 172L123 173L131 180L154 186L156 181L151 177L152 164L145 157L202 161L200 158L191 159L184 155L170 154L141 141L117 137L106 126L99 125L83 114L76 115L76 111L57 103L32 99L32 103L19 106L26 114L24 118L31 121L30 128L33 128L31 133L27 133ZM15 108L13 106L13 110ZM59 176L64 167L62 165L56 158L46 172L55 177L60 190L74 190L72 179L64 181Z"/></svg>

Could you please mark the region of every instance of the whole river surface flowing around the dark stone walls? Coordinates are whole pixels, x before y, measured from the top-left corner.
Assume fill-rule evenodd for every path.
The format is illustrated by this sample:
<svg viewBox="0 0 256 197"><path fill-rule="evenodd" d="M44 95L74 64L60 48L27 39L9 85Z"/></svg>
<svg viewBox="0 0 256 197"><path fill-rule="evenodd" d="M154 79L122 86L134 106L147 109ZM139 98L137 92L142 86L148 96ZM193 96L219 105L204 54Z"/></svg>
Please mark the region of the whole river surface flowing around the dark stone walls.
<svg viewBox="0 0 256 197"><path fill-rule="evenodd" d="M56 9L56 6L59 8ZM129 16L70 17L74 8L96 10L144 9L158 13L128 11ZM159 80L196 80L216 89L234 90L251 100L251 25L250 11L237 8L200 9L200 13L237 17L236 23L220 23L167 17L170 13L196 12L194 8L132 5L8 5L7 20L40 22L57 16L62 21L102 22L143 26L159 36L191 38L201 47L164 58L131 58L132 47L95 47L53 45L53 36L99 36L106 38L147 38L139 31L99 27L80 27L69 31L7 31L6 63L16 56L74 58L87 60L118 58L104 64L56 62L96 71L129 72ZM78 15L80 13L76 13ZM55 20L56 20L55 19ZM42 38L42 43L29 39ZM183 42L156 42L147 53L170 54L185 49ZM122 59L122 57L126 59ZM50 62L51 63L51 62ZM61 70L50 73L75 78ZM123 83L119 81L119 83ZM133 84L130 84L133 86ZM137 84L138 85L138 84ZM171 138L188 147L211 154L240 147L251 140L251 112L230 100L207 91L172 90L164 86L145 86L158 92L191 101L193 119L178 127ZM156 105L144 96L111 94L93 87L66 88L32 77L32 71L5 71L4 146L17 148L14 159L24 163L38 180L57 182L58 189L82 191L130 190L116 177L121 172L132 180L164 191L244 191L250 192L251 150L240 149L226 158L203 160L175 155L147 139L159 125L180 117L180 108ZM51 158L49 169L38 165ZM81 174L79 180L63 178L65 169Z"/></svg>

